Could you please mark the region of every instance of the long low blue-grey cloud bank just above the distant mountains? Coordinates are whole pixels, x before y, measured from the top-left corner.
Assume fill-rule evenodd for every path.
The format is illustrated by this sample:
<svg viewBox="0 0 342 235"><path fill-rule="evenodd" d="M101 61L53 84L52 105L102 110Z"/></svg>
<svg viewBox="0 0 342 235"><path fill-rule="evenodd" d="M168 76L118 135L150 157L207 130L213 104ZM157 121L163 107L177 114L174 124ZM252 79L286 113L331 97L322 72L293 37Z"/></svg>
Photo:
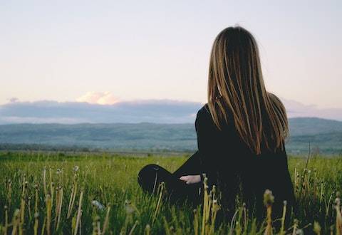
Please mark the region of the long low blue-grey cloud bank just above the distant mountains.
<svg viewBox="0 0 342 235"><path fill-rule="evenodd" d="M92 102L12 102L0 105L0 124L9 123L194 123L202 103L176 100L134 100L109 102L100 93ZM109 93L110 94L110 93ZM88 95L92 97L92 95ZM108 97L108 100L100 98ZM294 100L281 99L288 117L321 117L342 120L342 109L319 109ZM88 100L89 101L89 100ZM113 103L113 104L107 104Z"/></svg>

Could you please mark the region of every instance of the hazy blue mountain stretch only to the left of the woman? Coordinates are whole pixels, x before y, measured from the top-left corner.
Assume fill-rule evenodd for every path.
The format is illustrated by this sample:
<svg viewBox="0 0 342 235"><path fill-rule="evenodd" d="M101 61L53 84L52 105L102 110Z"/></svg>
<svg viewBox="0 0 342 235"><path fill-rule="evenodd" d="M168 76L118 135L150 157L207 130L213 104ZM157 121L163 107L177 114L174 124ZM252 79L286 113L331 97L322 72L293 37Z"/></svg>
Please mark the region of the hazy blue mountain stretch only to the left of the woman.
<svg viewBox="0 0 342 235"><path fill-rule="evenodd" d="M81 146L109 150L195 150L190 124L0 125L0 143Z"/></svg>

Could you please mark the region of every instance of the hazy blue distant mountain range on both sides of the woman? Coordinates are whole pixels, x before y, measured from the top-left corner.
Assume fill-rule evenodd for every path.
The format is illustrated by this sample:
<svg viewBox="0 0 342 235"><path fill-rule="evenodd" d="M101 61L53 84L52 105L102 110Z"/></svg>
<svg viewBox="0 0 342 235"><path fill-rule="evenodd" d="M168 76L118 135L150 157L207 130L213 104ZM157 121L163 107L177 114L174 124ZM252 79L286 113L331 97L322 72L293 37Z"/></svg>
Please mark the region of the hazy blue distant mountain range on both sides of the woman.
<svg viewBox="0 0 342 235"><path fill-rule="evenodd" d="M342 154L342 122L313 117L290 118L286 150ZM0 148L35 145L36 148L68 147L102 150L192 152L197 149L193 124L13 124L0 125Z"/></svg>

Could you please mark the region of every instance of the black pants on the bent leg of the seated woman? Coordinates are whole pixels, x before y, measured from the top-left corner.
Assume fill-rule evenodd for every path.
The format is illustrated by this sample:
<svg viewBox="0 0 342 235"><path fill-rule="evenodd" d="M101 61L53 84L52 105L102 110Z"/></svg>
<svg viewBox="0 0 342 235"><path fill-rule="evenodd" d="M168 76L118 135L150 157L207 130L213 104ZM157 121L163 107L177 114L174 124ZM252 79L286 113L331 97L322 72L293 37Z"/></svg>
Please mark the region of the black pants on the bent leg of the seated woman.
<svg viewBox="0 0 342 235"><path fill-rule="evenodd" d="M151 194L157 194L158 186L164 182L170 202L190 202L190 204L197 205L202 202L202 182L186 184L180 180L180 177L184 175L195 174L202 174L199 167L199 152L195 152L174 173L157 164L147 164L140 170L138 182L144 191Z"/></svg>

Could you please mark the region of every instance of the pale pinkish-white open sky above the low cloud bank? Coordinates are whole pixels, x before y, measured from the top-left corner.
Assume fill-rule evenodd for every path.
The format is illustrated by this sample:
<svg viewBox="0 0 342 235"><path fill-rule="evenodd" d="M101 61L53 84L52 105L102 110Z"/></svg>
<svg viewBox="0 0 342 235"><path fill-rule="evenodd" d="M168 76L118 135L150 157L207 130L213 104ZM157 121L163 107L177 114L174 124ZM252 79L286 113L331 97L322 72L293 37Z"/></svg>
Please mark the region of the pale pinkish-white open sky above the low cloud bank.
<svg viewBox="0 0 342 235"><path fill-rule="evenodd" d="M205 103L215 36L238 23L266 88L342 108L342 1L1 1L0 105Z"/></svg>

